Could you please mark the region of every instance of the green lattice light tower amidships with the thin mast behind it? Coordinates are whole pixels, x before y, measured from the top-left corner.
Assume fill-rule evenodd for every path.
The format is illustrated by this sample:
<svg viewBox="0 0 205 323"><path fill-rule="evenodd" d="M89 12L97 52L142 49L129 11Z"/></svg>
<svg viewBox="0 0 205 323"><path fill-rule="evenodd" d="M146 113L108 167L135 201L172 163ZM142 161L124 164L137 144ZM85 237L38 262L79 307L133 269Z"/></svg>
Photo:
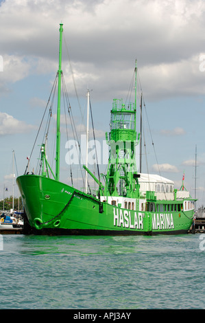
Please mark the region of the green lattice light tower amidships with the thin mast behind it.
<svg viewBox="0 0 205 323"><path fill-rule="evenodd" d="M136 133L136 62L134 103L114 99L110 118L110 133L106 141L110 146L108 172L104 196L139 197L136 167L136 145L140 137Z"/></svg>

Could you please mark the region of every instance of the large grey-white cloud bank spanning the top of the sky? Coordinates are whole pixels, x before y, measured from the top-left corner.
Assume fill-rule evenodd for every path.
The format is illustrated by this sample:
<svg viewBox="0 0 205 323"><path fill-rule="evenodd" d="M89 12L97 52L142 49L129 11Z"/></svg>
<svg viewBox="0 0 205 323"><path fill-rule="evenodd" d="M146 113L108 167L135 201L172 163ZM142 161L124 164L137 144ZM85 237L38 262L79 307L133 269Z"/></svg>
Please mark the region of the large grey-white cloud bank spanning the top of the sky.
<svg viewBox="0 0 205 323"><path fill-rule="evenodd" d="M204 15L203 0L5 0L0 54L10 69L4 80L57 70L62 21L80 93L86 85L95 86L93 97L123 93L135 58L146 97L204 93Z"/></svg>

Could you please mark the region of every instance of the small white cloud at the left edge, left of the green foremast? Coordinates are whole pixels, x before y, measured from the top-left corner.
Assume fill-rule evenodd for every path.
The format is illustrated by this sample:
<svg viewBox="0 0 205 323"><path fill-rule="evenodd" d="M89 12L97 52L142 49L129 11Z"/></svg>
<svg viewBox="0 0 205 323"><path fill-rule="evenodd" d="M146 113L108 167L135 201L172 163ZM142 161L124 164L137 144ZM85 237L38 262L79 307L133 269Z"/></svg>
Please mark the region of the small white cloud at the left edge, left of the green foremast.
<svg viewBox="0 0 205 323"><path fill-rule="evenodd" d="M27 133L34 126L15 119L8 113L0 112L0 135L14 135L16 133Z"/></svg>

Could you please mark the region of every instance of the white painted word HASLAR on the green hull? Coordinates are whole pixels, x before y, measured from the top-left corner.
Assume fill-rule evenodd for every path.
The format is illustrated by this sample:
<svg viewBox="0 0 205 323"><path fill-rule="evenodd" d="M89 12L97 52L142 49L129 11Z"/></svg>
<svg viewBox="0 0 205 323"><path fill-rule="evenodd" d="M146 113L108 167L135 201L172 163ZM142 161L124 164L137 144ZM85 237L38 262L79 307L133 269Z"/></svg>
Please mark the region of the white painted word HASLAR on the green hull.
<svg viewBox="0 0 205 323"><path fill-rule="evenodd" d="M141 213L136 214L134 212L134 219L131 217L131 212L127 210L119 210L113 208L114 212L114 226L126 227L129 229L141 229L143 230L143 215Z"/></svg>

